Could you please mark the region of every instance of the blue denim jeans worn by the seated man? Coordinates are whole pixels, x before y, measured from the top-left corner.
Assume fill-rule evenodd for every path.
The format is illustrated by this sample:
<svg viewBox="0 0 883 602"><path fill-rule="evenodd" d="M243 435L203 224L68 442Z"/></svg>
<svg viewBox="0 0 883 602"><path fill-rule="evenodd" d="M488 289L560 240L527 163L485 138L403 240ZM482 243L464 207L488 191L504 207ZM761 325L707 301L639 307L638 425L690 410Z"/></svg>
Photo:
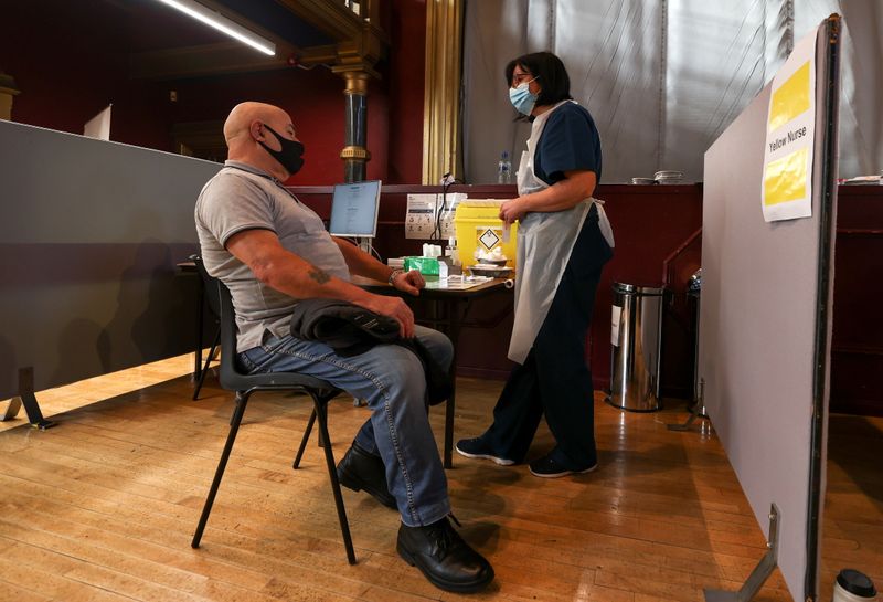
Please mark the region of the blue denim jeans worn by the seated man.
<svg viewBox="0 0 883 602"><path fill-rule="evenodd" d="M450 340L416 326L416 336L447 370L454 357ZM450 513L447 477L429 427L423 363L398 345L377 345L360 356L342 358L322 342L272 337L240 353L249 372L298 372L326 380L368 402L371 418L354 443L380 455L402 522L429 525Z"/></svg>

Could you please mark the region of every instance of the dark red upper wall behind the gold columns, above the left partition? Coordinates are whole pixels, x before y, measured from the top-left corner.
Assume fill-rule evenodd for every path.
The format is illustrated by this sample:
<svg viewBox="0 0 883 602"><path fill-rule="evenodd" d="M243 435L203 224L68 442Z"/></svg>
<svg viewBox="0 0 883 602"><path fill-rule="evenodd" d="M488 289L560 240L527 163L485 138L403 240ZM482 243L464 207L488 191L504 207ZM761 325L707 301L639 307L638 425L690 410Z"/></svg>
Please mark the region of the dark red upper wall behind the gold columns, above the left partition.
<svg viewBox="0 0 883 602"><path fill-rule="evenodd" d="M22 89L13 103L13 120L82 134L85 122L113 103L114 140L171 151L174 124L223 120L238 102L264 101L291 114L307 148L305 168L291 183L341 181L343 80L329 68L134 81L128 77L130 53L147 50L156 38L140 31L137 21L132 24L121 4L103 0L14 4L3 18L0 35L0 70ZM163 22L174 22L166 13L157 14ZM377 65L382 80L373 81L369 89L371 179L419 182L425 19L426 4L419 0L394 0L382 15L392 49ZM174 32L162 33L169 38ZM214 41L211 33L199 35L203 38L193 43ZM169 101L171 89L178 93L177 103Z"/></svg>

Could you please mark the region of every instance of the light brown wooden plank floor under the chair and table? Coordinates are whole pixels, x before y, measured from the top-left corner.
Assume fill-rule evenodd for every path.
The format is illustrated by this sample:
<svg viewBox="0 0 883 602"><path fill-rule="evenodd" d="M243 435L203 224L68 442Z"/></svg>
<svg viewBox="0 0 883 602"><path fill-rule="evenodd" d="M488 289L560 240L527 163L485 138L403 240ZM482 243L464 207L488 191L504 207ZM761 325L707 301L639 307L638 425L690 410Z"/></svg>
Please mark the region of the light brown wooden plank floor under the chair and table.
<svg viewBox="0 0 883 602"><path fill-rule="evenodd" d="M359 558L350 567L320 450L310 445L301 469L290 467L310 404L272 394L249 403L202 547L193 550L232 395L210 377L202 399L191 401L189 377L174 378L189 361L44 392L47 415L64 410L53 416L56 427L0 431L0 600L698 602L703 588L737 590L765 551L712 433L668 431L685 418L682 408L621 413L598 399L595 473L539 479L525 466L455 456L454 511L460 532L497 571L488 591L435 589L396 556L397 515L344 489ZM119 392L132 386L142 388ZM482 431L500 388L458 382L457 436ZM77 400L89 404L74 408ZM443 415L432 415L439 441ZM337 457L366 416L347 399L332 403ZM533 453L551 445L541 431ZM858 468L866 466L832 475L838 495ZM840 556L826 559L828 572L851 559L883 566L883 496L873 479L861 487L828 503L845 511L831 521ZM871 542L857 543L866 530ZM827 591L821 600L830 600L830 583ZM790 600L778 571L755 600Z"/></svg>

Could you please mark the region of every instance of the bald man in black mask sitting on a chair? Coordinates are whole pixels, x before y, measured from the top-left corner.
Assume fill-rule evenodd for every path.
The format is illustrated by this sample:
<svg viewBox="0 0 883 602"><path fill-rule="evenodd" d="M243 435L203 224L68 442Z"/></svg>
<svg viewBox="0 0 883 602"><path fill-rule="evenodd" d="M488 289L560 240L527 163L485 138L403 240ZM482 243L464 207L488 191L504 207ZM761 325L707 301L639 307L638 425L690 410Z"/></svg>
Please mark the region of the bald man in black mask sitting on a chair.
<svg viewBox="0 0 883 602"><path fill-rule="evenodd" d="M401 298L350 283L358 274L417 295L423 278L332 237L321 219L283 187L304 162L304 145L285 110L237 105L224 124L224 138L230 158L202 189L195 221L205 267L233 296L241 366L251 372L310 374L364 399L371 418L338 464L341 485L364 489L398 510L396 549L432 583L455 592L483 589L493 569L448 521L447 479L429 429L417 356L398 345L377 345L341 357L289 332L298 299L342 299L394 318L403 337L416 337L447 369L453 358L447 337L415 325Z"/></svg>

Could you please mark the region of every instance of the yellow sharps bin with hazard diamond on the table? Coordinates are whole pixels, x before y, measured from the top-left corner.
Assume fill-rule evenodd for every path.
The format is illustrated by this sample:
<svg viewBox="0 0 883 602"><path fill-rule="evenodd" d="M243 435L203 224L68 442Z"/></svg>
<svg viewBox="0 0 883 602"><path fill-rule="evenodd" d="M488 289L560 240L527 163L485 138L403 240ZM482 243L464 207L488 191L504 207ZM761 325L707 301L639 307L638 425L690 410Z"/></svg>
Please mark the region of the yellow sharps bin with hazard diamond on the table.
<svg viewBox="0 0 883 602"><path fill-rule="evenodd" d="M464 267L479 263L476 251L482 254L502 249L506 265L515 267L515 234L518 223L510 226L509 241L503 242L503 222L500 205L509 199L464 199L454 212L454 231L457 233L457 251Z"/></svg>

